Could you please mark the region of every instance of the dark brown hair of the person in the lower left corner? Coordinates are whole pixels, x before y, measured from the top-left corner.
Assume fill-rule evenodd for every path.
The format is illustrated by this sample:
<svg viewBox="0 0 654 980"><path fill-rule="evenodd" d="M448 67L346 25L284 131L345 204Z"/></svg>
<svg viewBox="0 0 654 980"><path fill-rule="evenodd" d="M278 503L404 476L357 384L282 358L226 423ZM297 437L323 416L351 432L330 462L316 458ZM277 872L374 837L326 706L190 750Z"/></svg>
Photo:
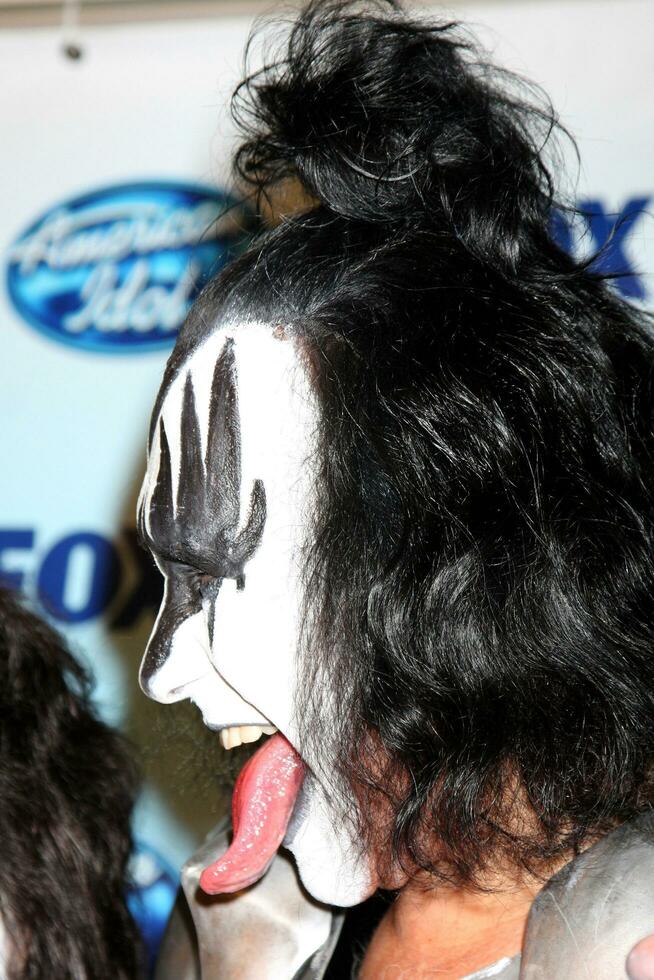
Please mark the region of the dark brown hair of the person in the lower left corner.
<svg viewBox="0 0 654 980"><path fill-rule="evenodd" d="M0 589L0 921L7 980L134 980L136 773L60 637ZM4 974L3 974L4 976Z"/></svg>

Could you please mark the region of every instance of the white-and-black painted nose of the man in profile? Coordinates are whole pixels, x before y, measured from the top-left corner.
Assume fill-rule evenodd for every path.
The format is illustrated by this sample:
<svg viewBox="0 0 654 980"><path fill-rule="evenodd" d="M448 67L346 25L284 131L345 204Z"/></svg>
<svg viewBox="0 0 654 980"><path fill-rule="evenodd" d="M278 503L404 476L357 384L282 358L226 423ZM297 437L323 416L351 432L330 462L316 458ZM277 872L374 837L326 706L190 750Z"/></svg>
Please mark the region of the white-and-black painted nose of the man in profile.
<svg viewBox="0 0 654 980"><path fill-rule="evenodd" d="M183 701L193 684L213 673L202 613L171 626L157 623L139 671L141 690L161 704Z"/></svg>

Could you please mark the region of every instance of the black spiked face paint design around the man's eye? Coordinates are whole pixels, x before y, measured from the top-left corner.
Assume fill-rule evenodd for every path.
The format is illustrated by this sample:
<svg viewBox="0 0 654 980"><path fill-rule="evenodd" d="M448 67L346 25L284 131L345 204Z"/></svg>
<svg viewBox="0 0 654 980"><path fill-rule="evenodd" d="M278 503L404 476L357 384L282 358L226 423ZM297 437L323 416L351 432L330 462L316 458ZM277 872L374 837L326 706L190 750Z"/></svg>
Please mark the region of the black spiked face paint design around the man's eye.
<svg viewBox="0 0 654 980"><path fill-rule="evenodd" d="M245 564L259 547L266 521L266 493L255 480L247 521L238 531L241 434L234 342L227 340L211 383L207 447L202 459L195 394L188 374L181 417L180 470L173 503L170 448L159 422L159 472L149 507L139 513L139 535L157 556L167 577L159 622L141 671L142 683L166 661L178 627L208 603L209 641L220 585L225 578L245 587Z"/></svg>

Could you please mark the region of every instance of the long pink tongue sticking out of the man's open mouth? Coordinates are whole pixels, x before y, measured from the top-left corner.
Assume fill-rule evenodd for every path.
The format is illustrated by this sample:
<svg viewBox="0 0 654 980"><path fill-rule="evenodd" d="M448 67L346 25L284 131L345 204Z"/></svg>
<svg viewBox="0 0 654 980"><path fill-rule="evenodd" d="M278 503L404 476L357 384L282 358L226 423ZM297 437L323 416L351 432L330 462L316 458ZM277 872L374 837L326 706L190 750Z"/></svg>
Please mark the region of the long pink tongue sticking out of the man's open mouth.
<svg viewBox="0 0 654 980"><path fill-rule="evenodd" d="M246 762L232 796L234 839L227 853L202 872L203 891L237 892L265 874L284 839L303 779L302 759L279 732Z"/></svg>

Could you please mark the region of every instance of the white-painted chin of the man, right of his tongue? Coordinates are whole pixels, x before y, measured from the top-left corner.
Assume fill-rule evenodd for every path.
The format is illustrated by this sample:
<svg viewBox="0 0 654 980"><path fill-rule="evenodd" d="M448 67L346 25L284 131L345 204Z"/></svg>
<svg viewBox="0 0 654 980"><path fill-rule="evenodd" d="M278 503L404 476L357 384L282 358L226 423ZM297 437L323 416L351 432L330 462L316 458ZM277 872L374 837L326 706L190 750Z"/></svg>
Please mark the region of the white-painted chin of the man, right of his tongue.
<svg viewBox="0 0 654 980"><path fill-rule="evenodd" d="M302 884L312 898L344 908L358 905L377 888L370 862L315 777L307 776L306 782L285 847L293 854Z"/></svg>

